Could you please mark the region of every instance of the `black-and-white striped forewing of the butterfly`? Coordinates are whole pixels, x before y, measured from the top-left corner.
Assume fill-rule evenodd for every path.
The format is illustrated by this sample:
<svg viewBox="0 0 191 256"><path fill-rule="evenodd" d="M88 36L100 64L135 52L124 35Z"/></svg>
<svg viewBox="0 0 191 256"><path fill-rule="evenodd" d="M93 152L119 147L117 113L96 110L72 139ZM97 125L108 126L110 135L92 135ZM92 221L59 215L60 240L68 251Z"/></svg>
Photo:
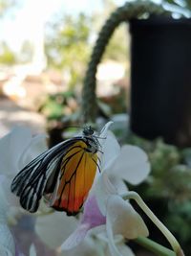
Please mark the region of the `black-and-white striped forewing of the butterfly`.
<svg viewBox="0 0 191 256"><path fill-rule="evenodd" d="M24 209L30 212L37 211L39 200L43 196L50 176L52 175L50 186L53 186L53 182L56 183L55 179L59 174L63 155L79 139L80 137L75 137L61 142L43 152L14 177L11 183L11 192L20 197L20 204Z"/></svg>

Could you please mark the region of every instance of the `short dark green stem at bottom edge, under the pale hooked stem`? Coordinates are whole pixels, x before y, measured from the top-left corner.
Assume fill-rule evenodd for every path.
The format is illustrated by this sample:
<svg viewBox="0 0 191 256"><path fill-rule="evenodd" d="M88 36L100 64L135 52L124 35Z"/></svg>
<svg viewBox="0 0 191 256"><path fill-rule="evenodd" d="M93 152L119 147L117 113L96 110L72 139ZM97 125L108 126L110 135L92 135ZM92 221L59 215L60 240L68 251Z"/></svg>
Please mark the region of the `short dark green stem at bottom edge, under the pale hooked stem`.
<svg viewBox="0 0 191 256"><path fill-rule="evenodd" d="M144 237L138 237L135 242L145 247L146 249L154 252L159 256L176 256L175 252L167 249L166 247Z"/></svg>

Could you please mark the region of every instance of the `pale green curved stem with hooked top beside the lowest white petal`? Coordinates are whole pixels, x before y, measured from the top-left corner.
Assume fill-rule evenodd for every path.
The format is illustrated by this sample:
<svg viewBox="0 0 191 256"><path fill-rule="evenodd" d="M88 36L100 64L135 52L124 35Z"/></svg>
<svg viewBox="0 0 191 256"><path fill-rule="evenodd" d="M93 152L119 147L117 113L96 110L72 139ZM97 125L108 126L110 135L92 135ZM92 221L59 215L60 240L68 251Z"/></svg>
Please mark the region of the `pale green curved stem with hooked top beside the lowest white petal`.
<svg viewBox="0 0 191 256"><path fill-rule="evenodd" d="M161 233L165 236L165 238L168 240L169 244L171 244L173 250L175 251L177 256L183 256L183 252L181 250L179 242L176 240L176 238L173 236L173 234L166 228L166 226L159 221L157 216L149 209L149 207L146 205L146 203L140 198L138 193L134 191L130 191L122 196L124 199L134 199L138 203L139 207L143 210L143 212L149 217L151 221L153 221L161 231Z"/></svg>

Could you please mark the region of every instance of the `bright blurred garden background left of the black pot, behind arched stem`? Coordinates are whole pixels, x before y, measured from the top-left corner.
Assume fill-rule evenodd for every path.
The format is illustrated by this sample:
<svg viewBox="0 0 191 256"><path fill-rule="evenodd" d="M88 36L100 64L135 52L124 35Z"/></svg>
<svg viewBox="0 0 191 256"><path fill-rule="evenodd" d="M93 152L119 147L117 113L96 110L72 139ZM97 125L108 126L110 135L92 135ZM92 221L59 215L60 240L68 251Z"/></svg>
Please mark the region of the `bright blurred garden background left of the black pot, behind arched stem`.
<svg viewBox="0 0 191 256"><path fill-rule="evenodd" d="M72 119L97 33L123 3L0 1L1 136L14 124L29 125L36 132L57 126L60 118ZM118 112L126 111L128 55L129 35L122 25L96 75L98 97L106 102L119 95L125 98L114 106Z"/></svg>

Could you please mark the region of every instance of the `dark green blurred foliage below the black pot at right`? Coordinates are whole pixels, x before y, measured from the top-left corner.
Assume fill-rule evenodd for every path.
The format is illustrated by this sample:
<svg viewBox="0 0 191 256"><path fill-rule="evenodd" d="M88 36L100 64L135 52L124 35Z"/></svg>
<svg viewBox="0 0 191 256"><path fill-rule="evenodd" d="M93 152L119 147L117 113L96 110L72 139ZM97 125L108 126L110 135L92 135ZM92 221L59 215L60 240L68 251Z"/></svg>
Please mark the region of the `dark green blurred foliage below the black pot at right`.
<svg viewBox="0 0 191 256"><path fill-rule="evenodd" d="M191 255L191 149L179 149L162 139L148 141L133 133L129 133L127 143L146 151L152 168L144 183L128 186L175 234L185 255Z"/></svg>

